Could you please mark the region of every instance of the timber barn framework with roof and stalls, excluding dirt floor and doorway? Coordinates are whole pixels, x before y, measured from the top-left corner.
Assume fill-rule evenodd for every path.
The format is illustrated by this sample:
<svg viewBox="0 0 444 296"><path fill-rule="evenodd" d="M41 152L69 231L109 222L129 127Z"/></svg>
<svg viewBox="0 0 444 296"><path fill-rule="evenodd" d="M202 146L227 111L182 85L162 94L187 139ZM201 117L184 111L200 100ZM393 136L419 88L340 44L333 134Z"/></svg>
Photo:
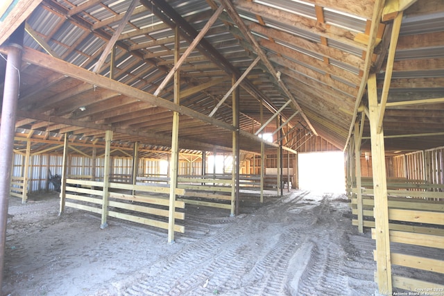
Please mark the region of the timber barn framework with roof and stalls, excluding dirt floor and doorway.
<svg viewBox="0 0 444 296"><path fill-rule="evenodd" d="M443 28L442 0L3 1L0 265L10 198L173 243L186 207L239 216L343 151L378 293L444 295Z"/></svg>

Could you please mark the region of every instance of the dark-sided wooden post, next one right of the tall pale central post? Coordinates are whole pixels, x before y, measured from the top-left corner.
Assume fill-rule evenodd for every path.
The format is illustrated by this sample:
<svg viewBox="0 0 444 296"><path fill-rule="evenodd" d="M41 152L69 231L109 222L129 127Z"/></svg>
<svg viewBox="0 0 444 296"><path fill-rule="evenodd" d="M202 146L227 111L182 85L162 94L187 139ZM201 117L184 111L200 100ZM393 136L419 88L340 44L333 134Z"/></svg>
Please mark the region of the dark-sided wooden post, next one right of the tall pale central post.
<svg viewBox="0 0 444 296"><path fill-rule="evenodd" d="M236 76L232 77L232 84L236 83ZM239 215L239 88L236 87L232 92L232 114L233 126L235 130L232 132L232 153L233 153L233 170L232 170L232 193L231 193L231 216Z"/></svg>

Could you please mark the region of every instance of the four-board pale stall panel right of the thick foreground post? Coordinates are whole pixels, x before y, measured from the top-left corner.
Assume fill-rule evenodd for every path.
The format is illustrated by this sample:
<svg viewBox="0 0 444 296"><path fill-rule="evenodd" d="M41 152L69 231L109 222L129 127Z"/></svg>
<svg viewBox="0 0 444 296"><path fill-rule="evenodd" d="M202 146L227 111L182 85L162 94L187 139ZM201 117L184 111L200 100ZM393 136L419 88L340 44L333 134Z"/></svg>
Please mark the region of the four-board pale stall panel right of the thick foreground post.
<svg viewBox="0 0 444 296"><path fill-rule="evenodd" d="M399 203L399 202L398 202ZM408 203L408 202L404 202ZM421 205L420 202L410 202L411 205ZM435 205L437 207L430 207ZM389 207L393 206L390 204ZM400 204L398 204L398 207ZM409 208L410 208L409 206ZM432 209L432 211L424 211L418 209L388 209L388 218L396 221L404 229L393 230L393 223L390 225L389 239L391 243L405 245L398 247L397 252L391 252L391 264L398 265L393 275L393 287L403 290L411 290L419 295L443 295L444 286L441 282L434 282L433 279L442 279L441 277L427 277L424 279L414 279L403 277L403 270L416 270L414 275L421 275L421 270L444 275L444 257L442 256L444 249L444 204L429 204L422 208ZM420 225L420 226L419 226ZM407 228L410 226L410 228ZM372 237L375 239L375 229L372 229ZM418 255L404 254L415 247L422 247ZM426 251L427 248L428 251ZM438 254L438 255L436 255ZM440 294L441 293L441 294Z"/></svg>

